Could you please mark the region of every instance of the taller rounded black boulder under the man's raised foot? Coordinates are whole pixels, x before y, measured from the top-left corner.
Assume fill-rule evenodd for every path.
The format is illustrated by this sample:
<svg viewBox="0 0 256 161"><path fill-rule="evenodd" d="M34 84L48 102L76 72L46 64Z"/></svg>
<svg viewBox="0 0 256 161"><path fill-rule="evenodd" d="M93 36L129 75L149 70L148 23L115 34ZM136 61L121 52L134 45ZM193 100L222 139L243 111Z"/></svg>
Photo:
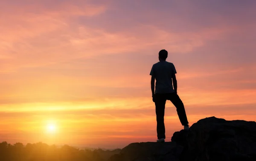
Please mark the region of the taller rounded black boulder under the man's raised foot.
<svg viewBox="0 0 256 161"><path fill-rule="evenodd" d="M172 141L179 141L177 138L173 137ZM187 147L183 161L256 161L254 121L201 119L190 127L184 140Z"/></svg>

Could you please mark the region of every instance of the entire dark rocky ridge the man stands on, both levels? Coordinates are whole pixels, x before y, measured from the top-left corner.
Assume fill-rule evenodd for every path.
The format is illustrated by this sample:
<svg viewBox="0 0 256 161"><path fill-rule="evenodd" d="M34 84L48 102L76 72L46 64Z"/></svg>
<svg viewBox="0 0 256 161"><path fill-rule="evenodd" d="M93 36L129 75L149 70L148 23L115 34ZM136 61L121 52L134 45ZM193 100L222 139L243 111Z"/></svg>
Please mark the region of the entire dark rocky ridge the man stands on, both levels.
<svg viewBox="0 0 256 161"><path fill-rule="evenodd" d="M109 161L256 161L256 122L201 119L172 142L132 143Z"/></svg>

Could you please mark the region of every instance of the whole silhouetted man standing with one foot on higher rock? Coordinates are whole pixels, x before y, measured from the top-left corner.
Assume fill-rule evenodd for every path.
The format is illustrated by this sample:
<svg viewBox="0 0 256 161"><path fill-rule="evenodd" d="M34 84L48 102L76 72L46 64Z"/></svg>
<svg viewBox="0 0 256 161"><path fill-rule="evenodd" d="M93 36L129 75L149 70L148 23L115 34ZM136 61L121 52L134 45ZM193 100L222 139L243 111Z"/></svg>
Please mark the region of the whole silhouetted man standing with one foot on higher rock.
<svg viewBox="0 0 256 161"><path fill-rule="evenodd" d="M167 56L168 52L166 50L159 51L159 62L152 66L150 72L152 98L156 106L157 115L157 142L164 142L166 138L164 126L166 100L170 100L176 107L180 123L184 126L184 130L189 130L189 122L186 117L183 102L177 95L177 80L175 76L177 72L175 66L171 62L166 62ZM156 88L154 91L155 79Z"/></svg>

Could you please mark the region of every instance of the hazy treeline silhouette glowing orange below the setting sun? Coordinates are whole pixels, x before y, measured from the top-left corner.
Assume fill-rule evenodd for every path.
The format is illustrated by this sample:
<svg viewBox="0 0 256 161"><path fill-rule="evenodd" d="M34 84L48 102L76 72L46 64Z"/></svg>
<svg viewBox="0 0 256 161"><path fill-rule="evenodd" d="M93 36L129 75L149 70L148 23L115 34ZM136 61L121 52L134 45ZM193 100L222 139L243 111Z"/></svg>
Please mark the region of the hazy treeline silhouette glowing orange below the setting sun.
<svg viewBox="0 0 256 161"><path fill-rule="evenodd" d="M0 143L0 161L106 161L116 150L80 150L69 145L56 147L42 142L35 144Z"/></svg>

